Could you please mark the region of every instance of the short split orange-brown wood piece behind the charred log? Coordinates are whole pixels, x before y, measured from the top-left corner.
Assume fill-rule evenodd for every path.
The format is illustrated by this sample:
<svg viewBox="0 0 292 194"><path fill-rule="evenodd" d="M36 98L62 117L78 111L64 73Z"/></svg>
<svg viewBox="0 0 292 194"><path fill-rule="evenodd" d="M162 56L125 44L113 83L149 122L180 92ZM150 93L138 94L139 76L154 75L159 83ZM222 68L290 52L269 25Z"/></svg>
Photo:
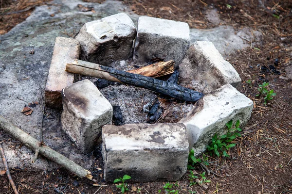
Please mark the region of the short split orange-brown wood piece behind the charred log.
<svg viewBox="0 0 292 194"><path fill-rule="evenodd" d="M129 70L128 73L140 74L147 77L157 78L173 73L174 61L160 61L138 69Z"/></svg>

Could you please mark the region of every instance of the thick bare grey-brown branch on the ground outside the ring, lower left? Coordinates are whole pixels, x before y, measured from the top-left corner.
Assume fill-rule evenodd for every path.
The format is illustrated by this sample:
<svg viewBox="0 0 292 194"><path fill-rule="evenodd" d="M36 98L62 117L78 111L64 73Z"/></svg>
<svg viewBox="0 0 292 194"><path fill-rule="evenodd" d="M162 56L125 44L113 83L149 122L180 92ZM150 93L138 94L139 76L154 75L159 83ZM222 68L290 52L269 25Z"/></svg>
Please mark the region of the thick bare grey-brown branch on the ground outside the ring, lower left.
<svg viewBox="0 0 292 194"><path fill-rule="evenodd" d="M0 128L10 133L24 145L30 147L36 152L38 150L39 154L43 155L44 157L50 159L53 162L56 162L57 164L69 170L70 172L76 174L78 177L80 178L86 177L90 180L92 179L91 172L82 168L75 162L69 160L62 154L56 152L54 149L42 144L40 141L33 138L23 130L19 129L2 116L0 116Z"/></svg>

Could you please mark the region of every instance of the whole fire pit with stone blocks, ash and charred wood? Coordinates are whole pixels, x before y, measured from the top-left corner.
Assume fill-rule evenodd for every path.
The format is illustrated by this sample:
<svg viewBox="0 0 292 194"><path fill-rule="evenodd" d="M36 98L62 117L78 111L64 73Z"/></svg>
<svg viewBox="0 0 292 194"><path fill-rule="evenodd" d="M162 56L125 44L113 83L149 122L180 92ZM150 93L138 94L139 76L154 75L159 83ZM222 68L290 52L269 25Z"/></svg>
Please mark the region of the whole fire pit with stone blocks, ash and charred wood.
<svg viewBox="0 0 292 194"><path fill-rule="evenodd" d="M160 80L125 72L157 61L173 63ZM45 94L47 105L63 107L62 128L80 151L102 141L107 181L175 181L190 149L198 155L227 122L248 121L253 102L235 88L240 82L211 42L190 44L186 23L141 16L136 30L121 13L56 38Z"/></svg>

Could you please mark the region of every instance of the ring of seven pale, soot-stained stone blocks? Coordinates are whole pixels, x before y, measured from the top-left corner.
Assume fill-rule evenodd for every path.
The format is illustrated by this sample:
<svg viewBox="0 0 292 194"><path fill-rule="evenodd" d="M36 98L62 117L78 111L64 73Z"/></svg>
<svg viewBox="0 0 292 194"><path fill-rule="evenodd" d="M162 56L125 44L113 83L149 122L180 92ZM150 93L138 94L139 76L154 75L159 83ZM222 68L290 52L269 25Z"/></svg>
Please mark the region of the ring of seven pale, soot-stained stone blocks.
<svg viewBox="0 0 292 194"><path fill-rule="evenodd" d="M234 88L241 82L234 67L211 42L189 42L186 23L141 16L136 31L126 14L88 22L74 39L56 38L47 86L60 83L65 87L62 128L82 152L91 151L102 135L107 181L125 174L138 182L178 180L186 172L190 149L199 155L216 133L226 133L227 122L239 120L242 128L250 118L253 102ZM111 124L110 102L93 83L73 83L72 75L64 71L79 52L82 60L100 65L132 55L138 62L153 58L181 62L181 85L205 96L178 123L106 125ZM58 71L61 76L55 73ZM52 91L46 88L46 102L60 106L60 100L48 95ZM61 96L60 89L54 94Z"/></svg>

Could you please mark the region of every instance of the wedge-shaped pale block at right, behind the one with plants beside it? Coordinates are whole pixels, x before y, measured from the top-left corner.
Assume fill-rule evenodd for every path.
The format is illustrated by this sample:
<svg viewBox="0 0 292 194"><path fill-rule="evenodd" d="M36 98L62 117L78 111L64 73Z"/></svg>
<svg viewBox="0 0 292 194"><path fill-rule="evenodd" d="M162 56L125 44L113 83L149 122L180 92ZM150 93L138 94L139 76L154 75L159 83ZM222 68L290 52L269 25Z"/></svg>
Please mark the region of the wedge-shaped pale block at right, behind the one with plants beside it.
<svg viewBox="0 0 292 194"><path fill-rule="evenodd" d="M208 41L197 41L190 46L179 71L182 86L204 94L228 83L238 87L241 82L235 68Z"/></svg>

